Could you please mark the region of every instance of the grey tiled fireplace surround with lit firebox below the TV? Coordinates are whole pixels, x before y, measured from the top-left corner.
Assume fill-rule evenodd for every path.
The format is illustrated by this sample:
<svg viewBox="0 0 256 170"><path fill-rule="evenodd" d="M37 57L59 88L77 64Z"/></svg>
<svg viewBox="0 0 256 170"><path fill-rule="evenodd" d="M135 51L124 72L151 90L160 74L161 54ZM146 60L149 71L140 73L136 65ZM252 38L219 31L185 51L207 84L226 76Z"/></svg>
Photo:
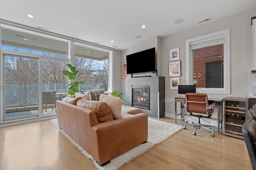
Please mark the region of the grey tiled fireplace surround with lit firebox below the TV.
<svg viewBox="0 0 256 170"><path fill-rule="evenodd" d="M148 116L164 116L165 77L126 78L125 104L142 109Z"/></svg>

